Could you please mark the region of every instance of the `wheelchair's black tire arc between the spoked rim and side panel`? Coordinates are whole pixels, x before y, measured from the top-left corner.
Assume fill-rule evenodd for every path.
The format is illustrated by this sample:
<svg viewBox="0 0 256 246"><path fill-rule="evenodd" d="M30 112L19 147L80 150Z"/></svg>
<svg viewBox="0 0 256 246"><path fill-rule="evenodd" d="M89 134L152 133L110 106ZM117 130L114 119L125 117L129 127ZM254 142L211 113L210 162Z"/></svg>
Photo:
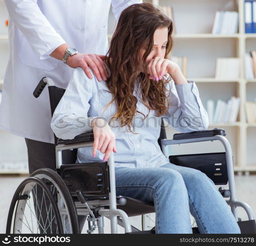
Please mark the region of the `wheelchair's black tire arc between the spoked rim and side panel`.
<svg viewBox="0 0 256 246"><path fill-rule="evenodd" d="M59 174L49 168L41 168L31 174L43 181L49 187L52 196L57 201L64 233L79 234L77 211L69 188Z"/></svg>

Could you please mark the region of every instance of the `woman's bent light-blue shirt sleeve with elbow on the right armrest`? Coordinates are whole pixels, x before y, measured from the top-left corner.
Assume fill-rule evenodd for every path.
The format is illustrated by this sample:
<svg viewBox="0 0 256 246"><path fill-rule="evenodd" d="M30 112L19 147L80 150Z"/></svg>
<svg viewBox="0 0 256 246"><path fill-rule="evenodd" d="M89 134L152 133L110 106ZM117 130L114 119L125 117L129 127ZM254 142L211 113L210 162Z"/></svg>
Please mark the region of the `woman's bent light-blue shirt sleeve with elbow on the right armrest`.
<svg viewBox="0 0 256 246"><path fill-rule="evenodd" d="M167 86L170 91L168 96L170 108L163 118L175 130L182 133L206 130L209 119L195 82L175 84L174 80L171 80Z"/></svg>

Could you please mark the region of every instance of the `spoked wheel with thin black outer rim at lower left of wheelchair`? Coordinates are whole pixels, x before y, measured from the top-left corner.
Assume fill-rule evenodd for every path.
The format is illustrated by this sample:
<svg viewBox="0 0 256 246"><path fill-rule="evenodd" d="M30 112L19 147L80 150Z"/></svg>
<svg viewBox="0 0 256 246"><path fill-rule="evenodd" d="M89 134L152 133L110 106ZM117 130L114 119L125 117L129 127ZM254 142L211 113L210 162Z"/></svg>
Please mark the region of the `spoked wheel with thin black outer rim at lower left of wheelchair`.
<svg viewBox="0 0 256 246"><path fill-rule="evenodd" d="M37 201L39 190L42 195L41 205ZM47 205L46 200L48 201ZM45 206L47 216L41 216L42 206ZM16 189L7 218L6 234L10 233L63 233L61 216L56 201L47 185L40 179L29 177Z"/></svg>

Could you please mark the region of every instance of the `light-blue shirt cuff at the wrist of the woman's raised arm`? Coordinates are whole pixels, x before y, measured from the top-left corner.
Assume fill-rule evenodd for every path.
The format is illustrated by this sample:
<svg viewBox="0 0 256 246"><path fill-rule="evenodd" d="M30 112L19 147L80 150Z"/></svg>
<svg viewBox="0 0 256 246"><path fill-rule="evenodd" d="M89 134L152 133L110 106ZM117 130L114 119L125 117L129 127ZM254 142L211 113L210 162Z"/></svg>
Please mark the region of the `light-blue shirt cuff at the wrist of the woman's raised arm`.
<svg viewBox="0 0 256 246"><path fill-rule="evenodd" d="M187 84L175 84L179 99L181 103L191 102L195 100L194 88L196 87L194 81L187 80ZM196 90L198 92L198 90Z"/></svg>

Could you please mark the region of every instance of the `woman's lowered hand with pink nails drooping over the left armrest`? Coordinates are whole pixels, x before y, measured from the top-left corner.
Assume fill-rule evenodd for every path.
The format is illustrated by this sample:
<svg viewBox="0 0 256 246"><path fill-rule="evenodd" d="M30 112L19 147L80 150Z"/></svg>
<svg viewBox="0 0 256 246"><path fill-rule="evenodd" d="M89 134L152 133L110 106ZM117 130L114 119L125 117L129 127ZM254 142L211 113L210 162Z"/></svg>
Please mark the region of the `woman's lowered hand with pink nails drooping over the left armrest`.
<svg viewBox="0 0 256 246"><path fill-rule="evenodd" d="M110 125L102 118L95 118L91 122L93 127L93 151L92 154L95 157L97 150L101 153L105 153L103 161L108 160L112 151L116 153L115 149L115 135L110 128Z"/></svg>

